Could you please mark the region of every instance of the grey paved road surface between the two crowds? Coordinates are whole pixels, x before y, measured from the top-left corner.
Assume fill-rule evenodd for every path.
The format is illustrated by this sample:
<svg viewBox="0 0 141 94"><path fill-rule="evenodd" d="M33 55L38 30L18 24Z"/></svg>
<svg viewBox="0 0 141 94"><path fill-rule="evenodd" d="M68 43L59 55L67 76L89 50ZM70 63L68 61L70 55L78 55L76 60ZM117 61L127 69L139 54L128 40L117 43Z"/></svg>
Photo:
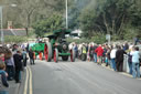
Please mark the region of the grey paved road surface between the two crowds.
<svg viewBox="0 0 141 94"><path fill-rule="evenodd" d="M32 71L33 94L141 94L141 80L93 62L44 62Z"/></svg>

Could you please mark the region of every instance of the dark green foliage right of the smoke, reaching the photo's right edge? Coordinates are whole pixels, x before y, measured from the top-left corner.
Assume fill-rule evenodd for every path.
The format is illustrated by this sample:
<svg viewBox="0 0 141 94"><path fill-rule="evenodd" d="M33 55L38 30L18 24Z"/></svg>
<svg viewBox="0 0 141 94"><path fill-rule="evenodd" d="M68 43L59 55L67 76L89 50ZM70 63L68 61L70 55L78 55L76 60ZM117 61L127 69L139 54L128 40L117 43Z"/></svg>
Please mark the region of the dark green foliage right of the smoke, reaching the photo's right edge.
<svg viewBox="0 0 141 94"><path fill-rule="evenodd" d="M141 7L134 2L135 0L93 0L79 15L83 35L91 38L95 33L109 33L112 40L123 40L124 34L130 33L124 30L126 24L141 25ZM138 29L134 31L139 34Z"/></svg>

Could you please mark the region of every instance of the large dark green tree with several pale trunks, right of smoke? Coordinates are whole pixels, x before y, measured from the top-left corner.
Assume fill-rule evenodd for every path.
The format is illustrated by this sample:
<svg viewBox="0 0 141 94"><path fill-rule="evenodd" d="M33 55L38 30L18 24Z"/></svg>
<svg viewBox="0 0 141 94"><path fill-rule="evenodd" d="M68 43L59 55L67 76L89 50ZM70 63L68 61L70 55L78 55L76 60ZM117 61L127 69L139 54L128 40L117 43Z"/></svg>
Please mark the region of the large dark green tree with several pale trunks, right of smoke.
<svg viewBox="0 0 141 94"><path fill-rule="evenodd" d="M96 4L90 3L84 9L79 19L84 33L121 35L124 24L130 22L129 9L133 6L133 0L95 0Z"/></svg>

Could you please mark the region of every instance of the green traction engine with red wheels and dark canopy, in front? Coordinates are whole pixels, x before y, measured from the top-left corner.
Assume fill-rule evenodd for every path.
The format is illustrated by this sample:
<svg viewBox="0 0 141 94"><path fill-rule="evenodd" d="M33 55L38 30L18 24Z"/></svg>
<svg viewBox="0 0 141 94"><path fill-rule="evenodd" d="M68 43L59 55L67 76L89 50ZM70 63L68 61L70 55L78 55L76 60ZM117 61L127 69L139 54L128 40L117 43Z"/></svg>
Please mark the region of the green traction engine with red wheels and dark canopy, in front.
<svg viewBox="0 0 141 94"><path fill-rule="evenodd" d="M65 35L70 34L70 30L61 29L48 35L50 42L45 44L44 55L45 60L50 62L52 59L54 62L58 62L61 56L63 61L67 61L70 58L72 62L75 62L75 51L68 49L68 42L65 40Z"/></svg>

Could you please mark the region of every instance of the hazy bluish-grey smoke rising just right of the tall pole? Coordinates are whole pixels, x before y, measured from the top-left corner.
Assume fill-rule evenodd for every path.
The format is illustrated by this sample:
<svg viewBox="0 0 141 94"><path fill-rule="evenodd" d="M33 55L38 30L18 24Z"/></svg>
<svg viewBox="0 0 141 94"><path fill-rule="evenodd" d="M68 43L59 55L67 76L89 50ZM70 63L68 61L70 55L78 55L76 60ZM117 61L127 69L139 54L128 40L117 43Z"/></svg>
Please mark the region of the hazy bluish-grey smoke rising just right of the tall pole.
<svg viewBox="0 0 141 94"><path fill-rule="evenodd" d="M73 0L73 4L68 8L68 27L70 29L78 29L78 18L82 11L86 8L95 7L96 1L97 0Z"/></svg>

